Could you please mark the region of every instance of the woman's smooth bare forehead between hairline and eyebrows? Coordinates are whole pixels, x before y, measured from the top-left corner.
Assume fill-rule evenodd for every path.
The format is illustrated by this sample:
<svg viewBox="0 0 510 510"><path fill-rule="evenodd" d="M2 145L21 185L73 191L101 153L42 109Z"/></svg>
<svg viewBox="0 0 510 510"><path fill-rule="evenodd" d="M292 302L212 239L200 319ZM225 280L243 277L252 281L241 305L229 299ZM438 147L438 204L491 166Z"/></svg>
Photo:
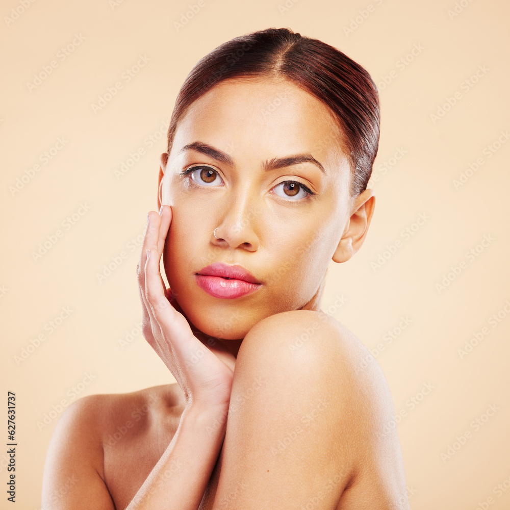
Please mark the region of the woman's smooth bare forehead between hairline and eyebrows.
<svg viewBox="0 0 510 510"><path fill-rule="evenodd" d="M179 150L199 140L234 158L310 152L325 166L344 156L341 136L329 108L292 82L236 79L220 82L194 101L179 122L173 146Z"/></svg>

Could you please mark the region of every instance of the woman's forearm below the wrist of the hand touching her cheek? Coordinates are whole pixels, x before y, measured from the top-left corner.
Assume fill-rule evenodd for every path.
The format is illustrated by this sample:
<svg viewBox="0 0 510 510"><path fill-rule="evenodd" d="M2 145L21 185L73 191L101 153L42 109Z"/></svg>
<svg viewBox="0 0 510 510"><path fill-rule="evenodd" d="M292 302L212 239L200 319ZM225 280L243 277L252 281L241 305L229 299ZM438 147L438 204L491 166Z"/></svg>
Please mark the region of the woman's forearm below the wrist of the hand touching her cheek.
<svg viewBox="0 0 510 510"><path fill-rule="evenodd" d="M228 407L186 407L160 460L125 510L197 510L225 437Z"/></svg>

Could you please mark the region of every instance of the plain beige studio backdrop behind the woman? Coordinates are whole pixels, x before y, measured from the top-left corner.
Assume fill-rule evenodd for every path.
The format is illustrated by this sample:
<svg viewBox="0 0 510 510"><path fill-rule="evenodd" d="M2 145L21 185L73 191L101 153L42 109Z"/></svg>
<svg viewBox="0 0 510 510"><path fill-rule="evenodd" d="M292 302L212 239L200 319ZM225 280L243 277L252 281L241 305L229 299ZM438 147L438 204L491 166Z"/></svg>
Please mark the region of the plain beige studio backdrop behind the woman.
<svg viewBox="0 0 510 510"><path fill-rule="evenodd" d="M161 135L195 62L232 37L268 27L334 45L381 84L375 215L361 251L343 265L331 262L322 308L372 349L396 413L405 414L396 426L411 507L510 507L510 143L488 157L488 146L510 129L508 3L288 0L290 7L279 9L283 0L201 0L177 30L191 3L40 0L13 20L21 2L2 2L2 391L17 398L18 507L40 507L62 399L173 382L137 329L135 269L146 212L157 209ZM458 15L449 14L456 4ZM81 42L72 53L59 53L73 40ZM409 65L397 64L407 55ZM148 61L127 82L123 73L140 56ZM34 73L52 60L52 73L29 90ZM94 112L98 97L119 81L122 89ZM434 121L448 97L455 104ZM152 147L150 136L159 138ZM44 164L59 138L65 145ZM140 148L139 161L117 179L114 171ZM403 156L392 160L398 150ZM477 158L478 171L455 189L453 181ZM386 171L385 162L393 165ZM37 163L40 171L28 179ZM28 182L13 194L22 178ZM73 214L79 219L70 225ZM426 221L415 224L420 215ZM402 234L406 227L412 236ZM62 237L34 260L39 243L59 229ZM484 236L492 239L487 246ZM387 245L395 252L375 267ZM476 257L467 256L471 249ZM97 274L122 251L126 258L99 282ZM438 290L455 266L460 274ZM345 303L335 307L342 296ZM63 307L72 312L49 333L45 326ZM498 312L499 322L489 322ZM402 317L405 329L389 342L385 335L399 333ZM483 327L489 334L461 359L457 349ZM29 347L40 334L45 339ZM422 393L424 385L430 389ZM488 417L491 404L497 411ZM467 430L465 444L442 458ZM3 486L6 458L0 454ZM0 506L11 508L5 498Z"/></svg>

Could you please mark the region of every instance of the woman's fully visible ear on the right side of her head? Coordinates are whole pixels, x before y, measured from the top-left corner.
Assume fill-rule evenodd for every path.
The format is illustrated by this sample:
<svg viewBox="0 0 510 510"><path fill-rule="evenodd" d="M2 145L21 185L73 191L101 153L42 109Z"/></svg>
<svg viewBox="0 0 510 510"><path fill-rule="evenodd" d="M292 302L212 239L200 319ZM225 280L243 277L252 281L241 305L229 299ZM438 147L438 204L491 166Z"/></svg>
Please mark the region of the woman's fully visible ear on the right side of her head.
<svg viewBox="0 0 510 510"><path fill-rule="evenodd" d="M351 216L345 225L342 239L331 257L335 262L346 262L361 248L374 213L375 194L367 189L354 198Z"/></svg>

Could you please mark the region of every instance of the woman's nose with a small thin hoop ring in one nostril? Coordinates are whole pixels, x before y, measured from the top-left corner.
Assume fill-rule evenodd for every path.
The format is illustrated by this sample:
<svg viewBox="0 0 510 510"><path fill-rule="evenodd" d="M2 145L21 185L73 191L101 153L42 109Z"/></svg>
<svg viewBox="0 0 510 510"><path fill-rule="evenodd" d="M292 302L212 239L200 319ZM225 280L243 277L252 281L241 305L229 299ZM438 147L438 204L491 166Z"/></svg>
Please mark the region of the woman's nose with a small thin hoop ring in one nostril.
<svg viewBox="0 0 510 510"><path fill-rule="evenodd" d="M253 225L260 217L260 212L253 201L246 195L232 198L231 206L222 207L222 212L223 220L217 223L218 226L211 233L211 242L216 246L256 251L259 237Z"/></svg>

